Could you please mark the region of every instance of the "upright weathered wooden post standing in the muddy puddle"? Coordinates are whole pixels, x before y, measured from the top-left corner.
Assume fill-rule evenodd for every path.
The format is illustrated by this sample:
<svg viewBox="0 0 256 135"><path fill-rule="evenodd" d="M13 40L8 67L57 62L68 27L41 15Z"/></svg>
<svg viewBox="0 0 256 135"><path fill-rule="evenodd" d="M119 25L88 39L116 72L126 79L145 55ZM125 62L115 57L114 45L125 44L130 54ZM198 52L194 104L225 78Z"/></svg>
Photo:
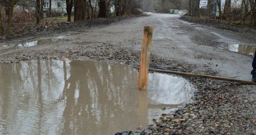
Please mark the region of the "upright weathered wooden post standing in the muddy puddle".
<svg viewBox="0 0 256 135"><path fill-rule="evenodd" d="M143 43L140 58L140 72L138 79L139 90L147 90L148 86L148 68L152 46L152 35L153 27L144 26Z"/></svg>

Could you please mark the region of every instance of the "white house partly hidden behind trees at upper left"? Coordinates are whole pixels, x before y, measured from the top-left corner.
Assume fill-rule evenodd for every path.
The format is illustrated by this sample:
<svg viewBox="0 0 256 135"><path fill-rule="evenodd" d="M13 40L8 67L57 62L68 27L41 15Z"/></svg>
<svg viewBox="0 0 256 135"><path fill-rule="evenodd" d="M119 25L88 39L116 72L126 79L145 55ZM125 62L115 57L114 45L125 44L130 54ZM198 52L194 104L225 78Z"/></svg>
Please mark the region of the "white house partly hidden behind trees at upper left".
<svg viewBox="0 0 256 135"><path fill-rule="evenodd" d="M49 12L49 0L44 0L44 12ZM67 13L66 10L66 1L65 0L52 0L51 1L51 13L60 14L60 13Z"/></svg>

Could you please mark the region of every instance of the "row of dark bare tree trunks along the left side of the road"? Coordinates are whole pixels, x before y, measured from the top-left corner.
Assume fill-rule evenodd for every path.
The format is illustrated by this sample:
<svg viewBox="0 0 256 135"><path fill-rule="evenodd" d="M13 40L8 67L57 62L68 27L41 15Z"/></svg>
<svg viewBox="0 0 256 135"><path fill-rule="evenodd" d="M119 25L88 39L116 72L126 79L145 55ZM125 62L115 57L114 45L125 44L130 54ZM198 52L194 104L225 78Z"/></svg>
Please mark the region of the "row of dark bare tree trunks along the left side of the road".
<svg viewBox="0 0 256 135"><path fill-rule="evenodd" d="M49 0L49 15L52 5ZM71 22L74 12L74 22L86 19L117 17L131 14L134 8L141 8L143 0L62 0L66 3L68 22ZM0 35L10 35L15 7L32 8L35 23L44 22L44 0L0 0ZM4 9L4 10L3 10ZM72 11L74 10L74 11ZM19 14L19 13L17 13ZM27 13L28 14L28 13ZM26 18L26 17L25 17ZM28 18L27 18L28 19ZM7 27L5 27L7 26Z"/></svg>

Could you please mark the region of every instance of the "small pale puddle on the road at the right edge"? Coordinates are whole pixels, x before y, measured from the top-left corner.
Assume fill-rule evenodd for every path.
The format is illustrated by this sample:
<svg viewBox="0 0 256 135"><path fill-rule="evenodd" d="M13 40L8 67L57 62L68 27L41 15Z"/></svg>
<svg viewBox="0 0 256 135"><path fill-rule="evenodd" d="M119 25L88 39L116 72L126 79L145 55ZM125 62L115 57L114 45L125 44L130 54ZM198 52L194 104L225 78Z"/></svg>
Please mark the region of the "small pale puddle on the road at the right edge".
<svg viewBox="0 0 256 135"><path fill-rule="evenodd" d="M238 52L241 54L253 56L255 54L256 47L242 44L231 44L228 45L228 50L232 52Z"/></svg>

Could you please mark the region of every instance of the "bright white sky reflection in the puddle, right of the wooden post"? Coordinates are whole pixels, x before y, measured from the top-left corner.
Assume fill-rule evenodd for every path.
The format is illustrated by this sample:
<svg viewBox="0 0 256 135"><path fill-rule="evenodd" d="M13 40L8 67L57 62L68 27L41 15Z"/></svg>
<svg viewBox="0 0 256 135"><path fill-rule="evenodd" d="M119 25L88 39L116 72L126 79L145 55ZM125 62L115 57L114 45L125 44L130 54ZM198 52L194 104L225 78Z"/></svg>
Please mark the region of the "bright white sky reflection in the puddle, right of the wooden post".
<svg viewBox="0 0 256 135"><path fill-rule="evenodd" d="M186 79L158 73L149 74L148 78L150 104L182 104L191 100L194 90Z"/></svg>

